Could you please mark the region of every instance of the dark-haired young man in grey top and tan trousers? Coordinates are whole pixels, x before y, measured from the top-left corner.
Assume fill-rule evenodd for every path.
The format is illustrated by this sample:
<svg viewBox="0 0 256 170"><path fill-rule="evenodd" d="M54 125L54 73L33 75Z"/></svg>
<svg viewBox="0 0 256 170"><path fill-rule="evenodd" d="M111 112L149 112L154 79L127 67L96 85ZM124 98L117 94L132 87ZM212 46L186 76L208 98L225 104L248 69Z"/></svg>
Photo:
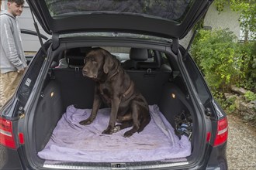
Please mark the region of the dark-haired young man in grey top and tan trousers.
<svg viewBox="0 0 256 170"><path fill-rule="evenodd" d="M8 0L7 11L2 12L0 15L0 86L2 86L2 105L12 97L27 66L19 23L16 18L16 16L22 14L23 5L24 0Z"/></svg>

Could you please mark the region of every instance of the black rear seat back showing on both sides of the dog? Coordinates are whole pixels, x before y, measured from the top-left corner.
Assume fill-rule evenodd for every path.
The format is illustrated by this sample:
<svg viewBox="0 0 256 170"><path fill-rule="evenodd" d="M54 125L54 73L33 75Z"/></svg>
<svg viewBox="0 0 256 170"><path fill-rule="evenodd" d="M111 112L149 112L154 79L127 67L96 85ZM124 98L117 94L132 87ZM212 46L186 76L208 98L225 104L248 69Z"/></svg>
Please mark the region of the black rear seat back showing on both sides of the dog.
<svg viewBox="0 0 256 170"><path fill-rule="evenodd" d="M78 107L92 107L95 82L82 76L81 69L54 68L51 79L60 84L64 106L76 104ZM164 83L171 80L171 74L159 70L126 70L148 104L158 104Z"/></svg>

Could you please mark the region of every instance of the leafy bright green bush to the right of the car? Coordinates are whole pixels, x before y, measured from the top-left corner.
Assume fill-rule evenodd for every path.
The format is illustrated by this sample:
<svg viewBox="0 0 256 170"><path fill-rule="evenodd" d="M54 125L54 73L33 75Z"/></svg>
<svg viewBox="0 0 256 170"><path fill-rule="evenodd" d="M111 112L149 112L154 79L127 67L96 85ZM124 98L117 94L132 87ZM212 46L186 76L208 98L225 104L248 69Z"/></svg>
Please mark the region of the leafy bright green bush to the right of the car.
<svg viewBox="0 0 256 170"><path fill-rule="evenodd" d="M224 93L240 76L240 46L229 29L199 30L191 53L213 93Z"/></svg>

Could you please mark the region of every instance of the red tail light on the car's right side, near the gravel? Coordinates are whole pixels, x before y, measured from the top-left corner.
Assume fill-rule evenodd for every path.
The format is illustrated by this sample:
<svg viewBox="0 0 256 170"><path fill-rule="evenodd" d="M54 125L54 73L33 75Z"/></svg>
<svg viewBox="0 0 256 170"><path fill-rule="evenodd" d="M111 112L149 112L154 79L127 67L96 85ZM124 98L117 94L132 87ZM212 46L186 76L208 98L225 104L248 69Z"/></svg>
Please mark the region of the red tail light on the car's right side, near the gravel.
<svg viewBox="0 0 256 170"><path fill-rule="evenodd" d="M228 134L228 124L227 117L218 121L218 131L216 133L216 138L213 146L222 145L225 141L227 141Z"/></svg>

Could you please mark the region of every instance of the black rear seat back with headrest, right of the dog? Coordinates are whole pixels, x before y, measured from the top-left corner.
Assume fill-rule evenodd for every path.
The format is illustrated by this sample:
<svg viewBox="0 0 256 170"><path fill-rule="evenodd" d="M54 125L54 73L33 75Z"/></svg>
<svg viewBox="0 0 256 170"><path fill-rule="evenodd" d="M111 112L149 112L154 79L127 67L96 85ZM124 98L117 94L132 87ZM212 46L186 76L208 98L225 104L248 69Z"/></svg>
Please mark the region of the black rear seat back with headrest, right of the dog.
<svg viewBox="0 0 256 170"><path fill-rule="evenodd" d="M148 49L130 49L130 60L124 62L123 68L134 81L135 86L144 95L148 104L157 104L161 99L164 83L172 80L171 67L161 66L157 51L150 57ZM149 59L150 57L150 59Z"/></svg>

